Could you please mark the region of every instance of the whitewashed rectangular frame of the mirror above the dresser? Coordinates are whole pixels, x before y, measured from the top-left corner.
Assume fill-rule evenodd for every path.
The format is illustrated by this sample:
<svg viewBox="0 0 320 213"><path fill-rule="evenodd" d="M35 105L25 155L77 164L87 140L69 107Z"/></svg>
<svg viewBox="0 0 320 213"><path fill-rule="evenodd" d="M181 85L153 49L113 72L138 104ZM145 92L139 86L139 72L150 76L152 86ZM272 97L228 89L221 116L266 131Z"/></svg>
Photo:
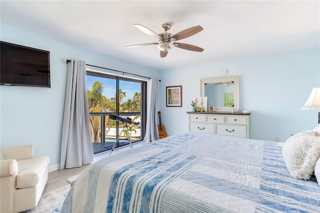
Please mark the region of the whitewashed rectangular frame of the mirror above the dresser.
<svg viewBox="0 0 320 213"><path fill-rule="evenodd" d="M239 110L239 76L225 76L225 77L209 77L200 79L201 97L205 96L205 84L207 83L222 83L233 81L234 86L234 105L233 106L213 106L213 111L231 111L232 108L235 108L236 111ZM209 102L209 100L208 100ZM209 105L208 105L209 108Z"/></svg>

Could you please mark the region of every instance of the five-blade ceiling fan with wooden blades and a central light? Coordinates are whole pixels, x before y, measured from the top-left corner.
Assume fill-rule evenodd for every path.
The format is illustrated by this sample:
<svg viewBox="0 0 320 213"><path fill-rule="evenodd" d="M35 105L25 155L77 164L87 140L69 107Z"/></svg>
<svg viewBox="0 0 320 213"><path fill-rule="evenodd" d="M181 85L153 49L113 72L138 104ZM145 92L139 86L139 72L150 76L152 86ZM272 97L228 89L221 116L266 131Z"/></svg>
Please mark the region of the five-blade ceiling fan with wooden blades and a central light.
<svg viewBox="0 0 320 213"><path fill-rule="evenodd" d="M182 48L182 49L186 49L186 50L191 50L191 51L198 51L198 52L203 51L203 49L201 47L194 46L191 44L177 43L177 42L172 43L173 41L181 40L183 38L186 38L186 37L189 37L191 35L198 33L199 31L201 31L203 29L200 25L193 26L188 29L184 29L174 35L167 32L171 28L171 25L168 23L162 24L162 29L164 30L164 32L160 33L160 34L156 34L152 30L146 28L145 26L142 26L141 24L134 24L134 26L136 26L142 32L145 32L146 34L148 34L152 37L155 37L156 39L158 39L158 42L157 43L141 43L141 44L135 44L135 45L130 45L130 46L126 46L126 47L157 45L157 47L160 49L160 56L161 57L165 57L167 55L168 51L171 50L174 46Z"/></svg>

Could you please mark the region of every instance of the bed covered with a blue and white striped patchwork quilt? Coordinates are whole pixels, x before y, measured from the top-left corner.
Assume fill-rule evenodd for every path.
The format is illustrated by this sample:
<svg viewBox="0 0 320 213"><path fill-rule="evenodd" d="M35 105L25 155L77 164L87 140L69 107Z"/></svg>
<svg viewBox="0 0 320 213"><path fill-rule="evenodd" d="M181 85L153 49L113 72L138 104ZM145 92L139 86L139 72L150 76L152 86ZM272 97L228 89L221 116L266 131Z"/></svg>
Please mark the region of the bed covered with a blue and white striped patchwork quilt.
<svg viewBox="0 0 320 213"><path fill-rule="evenodd" d="M293 178L279 144L190 132L145 143L85 168L61 212L320 211L320 185Z"/></svg>

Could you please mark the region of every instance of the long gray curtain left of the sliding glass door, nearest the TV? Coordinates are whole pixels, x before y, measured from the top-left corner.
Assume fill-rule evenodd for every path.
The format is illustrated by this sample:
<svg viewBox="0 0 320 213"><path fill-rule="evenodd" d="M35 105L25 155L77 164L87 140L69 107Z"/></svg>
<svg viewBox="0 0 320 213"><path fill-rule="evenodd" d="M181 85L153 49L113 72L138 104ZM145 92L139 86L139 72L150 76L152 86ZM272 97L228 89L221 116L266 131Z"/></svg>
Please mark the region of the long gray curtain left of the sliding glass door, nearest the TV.
<svg viewBox="0 0 320 213"><path fill-rule="evenodd" d="M71 59L67 66L60 169L93 161L85 62Z"/></svg>

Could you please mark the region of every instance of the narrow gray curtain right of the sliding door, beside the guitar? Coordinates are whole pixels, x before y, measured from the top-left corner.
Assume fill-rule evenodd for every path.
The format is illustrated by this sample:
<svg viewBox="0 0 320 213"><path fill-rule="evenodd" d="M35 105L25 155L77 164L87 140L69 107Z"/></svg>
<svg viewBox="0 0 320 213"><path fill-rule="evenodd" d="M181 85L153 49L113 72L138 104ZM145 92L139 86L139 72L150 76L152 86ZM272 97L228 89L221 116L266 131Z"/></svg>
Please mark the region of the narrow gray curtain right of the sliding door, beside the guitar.
<svg viewBox="0 0 320 213"><path fill-rule="evenodd" d="M144 141L150 142L159 139L157 128L157 105L158 105L158 79L151 78L147 82L146 96L146 129Z"/></svg>

